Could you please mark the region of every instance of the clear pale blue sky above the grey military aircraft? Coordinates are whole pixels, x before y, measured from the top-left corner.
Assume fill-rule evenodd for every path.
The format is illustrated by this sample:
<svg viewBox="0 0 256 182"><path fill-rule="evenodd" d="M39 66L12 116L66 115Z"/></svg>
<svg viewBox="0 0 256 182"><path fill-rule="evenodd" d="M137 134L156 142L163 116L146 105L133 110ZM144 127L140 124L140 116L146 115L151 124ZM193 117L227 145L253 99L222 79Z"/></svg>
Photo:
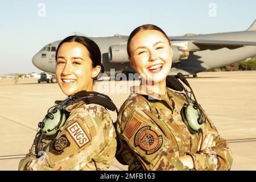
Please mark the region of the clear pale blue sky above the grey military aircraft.
<svg viewBox="0 0 256 182"><path fill-rule="evenodd" d="M145 23L156 24L168 36L242 31L256 19L255 7L255 0L1 1L0 74L40 72L32 56L72 32L129 35Z"/></svg>

